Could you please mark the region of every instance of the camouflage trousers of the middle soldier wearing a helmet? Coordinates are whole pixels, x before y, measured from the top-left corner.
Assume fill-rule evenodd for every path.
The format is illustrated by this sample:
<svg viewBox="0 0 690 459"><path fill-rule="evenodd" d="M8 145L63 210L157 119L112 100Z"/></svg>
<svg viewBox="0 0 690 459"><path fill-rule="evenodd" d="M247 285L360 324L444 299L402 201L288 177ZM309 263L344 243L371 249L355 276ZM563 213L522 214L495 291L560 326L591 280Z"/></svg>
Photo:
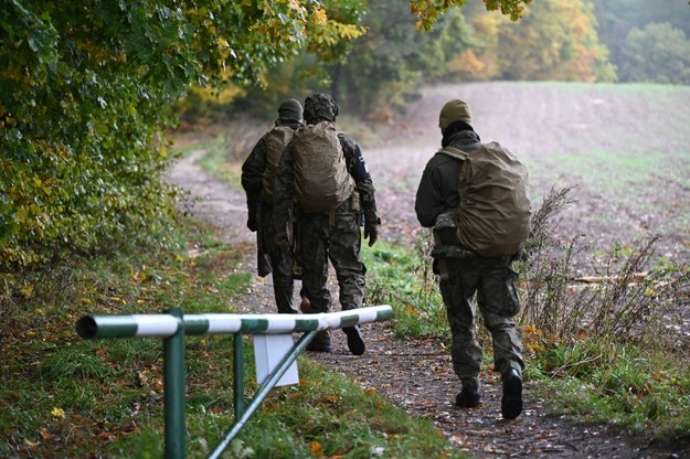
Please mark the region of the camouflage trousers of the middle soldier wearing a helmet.
<svg viewBox="0 0 690 459"><path fill-rule="evenodd" d="M350 200L331 213L304 213L298 216L297 258L301 264L302 289L314 312L328 312L328 261L336 269L342 310L362 307L364 274L360 261L361 230L359 212Z"/></svg>

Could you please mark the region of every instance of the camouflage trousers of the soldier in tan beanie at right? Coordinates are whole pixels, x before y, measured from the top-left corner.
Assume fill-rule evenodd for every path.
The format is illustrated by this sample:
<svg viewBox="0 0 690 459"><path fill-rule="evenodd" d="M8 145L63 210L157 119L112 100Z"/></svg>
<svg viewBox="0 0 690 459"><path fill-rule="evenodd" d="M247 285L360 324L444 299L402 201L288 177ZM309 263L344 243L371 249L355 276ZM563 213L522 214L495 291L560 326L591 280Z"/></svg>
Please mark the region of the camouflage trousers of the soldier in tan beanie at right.
<svg viewBox="0 0 690 459"><path fill-rule="evenodd" d="M503 373L524 367L522 343L513 317L520 311L516 280L510 257L485 258L465 252L457 258L437 258L442 275L440 293L446 306L453 334L452 359L455 374L460 380L476 378L481 370L481 346L475 328L475 302L491 333L496 371Z"/></svg>

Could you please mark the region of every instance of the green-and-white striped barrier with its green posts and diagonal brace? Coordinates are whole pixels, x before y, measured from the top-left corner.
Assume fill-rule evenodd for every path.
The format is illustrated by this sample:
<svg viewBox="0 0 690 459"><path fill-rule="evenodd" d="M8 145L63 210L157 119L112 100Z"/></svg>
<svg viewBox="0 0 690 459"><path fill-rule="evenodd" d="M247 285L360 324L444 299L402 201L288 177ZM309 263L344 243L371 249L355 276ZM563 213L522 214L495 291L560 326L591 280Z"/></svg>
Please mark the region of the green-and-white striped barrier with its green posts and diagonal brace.
<svg viewBox="0 0 690 459"><path fill-rule="evenodd" d="M84 339L150 337L163 339L166 458L173 459L184 458L185 449L184 337L188 334L234 334L235 424L210 456L219 458L318 331L389 320L392 316L393 309L390 306L304 316L231 313L184 316L181 310L173 309L167 314L85 316L77 321L76 330ZM245 409L242 333L289 334L293 332L306 333L273 369Z"/></svg>

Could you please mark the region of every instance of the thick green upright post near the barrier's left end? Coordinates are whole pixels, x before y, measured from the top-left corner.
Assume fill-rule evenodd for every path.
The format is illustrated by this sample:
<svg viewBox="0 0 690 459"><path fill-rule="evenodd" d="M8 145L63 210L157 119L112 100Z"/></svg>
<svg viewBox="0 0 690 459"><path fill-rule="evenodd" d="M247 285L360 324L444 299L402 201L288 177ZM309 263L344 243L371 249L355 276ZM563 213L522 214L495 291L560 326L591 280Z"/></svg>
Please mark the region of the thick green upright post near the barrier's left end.
<svg viewBox="0 0 690 459"><path fill-rule="evenodd" d="M184 321L180 309L168 311L178 330L163 339L163 412L166 416L166 459L183 459L184 437Z"/></svg>

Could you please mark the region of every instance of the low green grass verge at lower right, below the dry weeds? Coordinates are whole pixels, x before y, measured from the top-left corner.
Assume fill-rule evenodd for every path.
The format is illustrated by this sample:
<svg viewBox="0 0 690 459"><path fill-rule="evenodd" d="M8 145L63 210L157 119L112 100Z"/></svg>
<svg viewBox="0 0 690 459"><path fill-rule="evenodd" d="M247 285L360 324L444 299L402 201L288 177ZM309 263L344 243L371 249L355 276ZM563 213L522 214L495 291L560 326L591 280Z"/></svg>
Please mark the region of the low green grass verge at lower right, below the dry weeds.
<svg viewBox="0 0 690 459"><path fill-rule="evenodd" d="M531 362L550 410L661 441L690 438L690 371L661 351L582 341Z"/></svg>

